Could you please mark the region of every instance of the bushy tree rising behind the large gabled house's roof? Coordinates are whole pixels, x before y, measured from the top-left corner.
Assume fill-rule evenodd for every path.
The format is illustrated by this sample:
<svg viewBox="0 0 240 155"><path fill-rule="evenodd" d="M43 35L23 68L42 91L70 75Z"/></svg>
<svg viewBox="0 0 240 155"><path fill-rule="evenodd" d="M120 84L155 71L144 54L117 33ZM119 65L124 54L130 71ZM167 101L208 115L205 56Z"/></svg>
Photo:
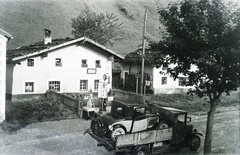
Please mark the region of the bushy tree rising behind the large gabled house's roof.
<svg viewBox="0 0 240 155"><path fill-rule="evenodd" d="M72 34L75 38L86 36L102 45L113 45L121 25L113 13L96 14L86 7L72 19Z"/></svg>

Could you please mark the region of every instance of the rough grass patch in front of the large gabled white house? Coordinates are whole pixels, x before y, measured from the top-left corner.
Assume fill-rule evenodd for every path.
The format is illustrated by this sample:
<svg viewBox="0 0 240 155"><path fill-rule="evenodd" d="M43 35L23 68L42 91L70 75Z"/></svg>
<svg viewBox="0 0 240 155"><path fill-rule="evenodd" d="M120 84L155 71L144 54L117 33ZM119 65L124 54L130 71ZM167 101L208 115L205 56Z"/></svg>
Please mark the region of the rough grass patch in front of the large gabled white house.
<svg viewBox="0 0 240 155"><path fill-rule="evenodd" d="M51 99L34 99L6 103L3 130L14 132L31 123L78 117L72 109Z"/></svg>

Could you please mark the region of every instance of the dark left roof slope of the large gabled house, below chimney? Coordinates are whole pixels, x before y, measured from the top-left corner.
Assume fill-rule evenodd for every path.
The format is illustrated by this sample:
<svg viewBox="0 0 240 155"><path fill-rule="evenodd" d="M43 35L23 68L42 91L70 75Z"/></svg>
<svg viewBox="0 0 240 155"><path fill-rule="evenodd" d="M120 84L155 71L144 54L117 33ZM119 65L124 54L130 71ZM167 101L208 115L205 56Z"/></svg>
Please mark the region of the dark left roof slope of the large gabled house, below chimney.
<svg viewBox="0 0 240 155"><path fill-rule="evenodd" d="M30 53L34 53L34 52L37 52L37 51L40 51L40 50L44 50L44 49L47 49L47 48L50 48L50 47L53 47L53 46L71 41L71 40L73 40L73 39L72 38L65 38L65 39L59 39L58 38L58 39L53 39L52 43L49 43L49 44L46 44L46 45L42 41L42 42L37 42L37 43L29 45L29 46L22 46L22 47L19 47L19 48L16 48L16 49L7 50L7 59L11 60L15 57L24 56L24 55L27 55L27 54L30 54Z"/></svg>

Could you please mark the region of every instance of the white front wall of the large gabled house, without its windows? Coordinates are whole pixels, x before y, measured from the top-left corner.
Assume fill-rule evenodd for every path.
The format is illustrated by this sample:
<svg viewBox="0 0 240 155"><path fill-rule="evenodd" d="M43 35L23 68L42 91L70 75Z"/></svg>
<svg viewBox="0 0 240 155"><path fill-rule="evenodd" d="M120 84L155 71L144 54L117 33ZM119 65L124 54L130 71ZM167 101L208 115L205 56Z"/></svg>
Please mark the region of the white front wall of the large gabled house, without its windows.
<svg viewBox="0 0 240 155"><path fill-rule="evenodd" d="M33 57L34 67L27 66L27 60L16 64L13 70L12 95L25 93L25 82L35 82L35 92L45 93L48 82L61 82L64 93L79 92L80 80L88 80L88 89L94 89L94 80L101 79L106 72L112 79L112 62L107 56L89 49L83 45L71 45L48 53L47 57ZM62 58L62 67L55 66L55 58ZM81 60L87 59L88 67L81 67ZM95 68L95 60L101 61L101 68L96 68L96 74L87 74L88 68ZM112 80L111 80L112 81ZM111 83L109 88L111 88Z"/></svg>

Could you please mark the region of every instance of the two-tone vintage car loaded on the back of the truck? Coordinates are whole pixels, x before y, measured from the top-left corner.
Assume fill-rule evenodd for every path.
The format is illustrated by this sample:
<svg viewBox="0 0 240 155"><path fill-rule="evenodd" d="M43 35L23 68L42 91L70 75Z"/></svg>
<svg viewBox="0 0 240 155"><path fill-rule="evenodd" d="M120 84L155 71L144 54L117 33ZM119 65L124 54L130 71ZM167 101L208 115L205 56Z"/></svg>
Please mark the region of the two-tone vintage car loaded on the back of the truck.
<svg viewBox="0 0 240 155"><path fill-rule="evenodd" d="M101 115L91 122L95 135L116 138L117 135L144 131L158 126L167 128L165 121L157 113L147 113L147 106L139 103L125 103L114 100L111 112Z"/></svg>

